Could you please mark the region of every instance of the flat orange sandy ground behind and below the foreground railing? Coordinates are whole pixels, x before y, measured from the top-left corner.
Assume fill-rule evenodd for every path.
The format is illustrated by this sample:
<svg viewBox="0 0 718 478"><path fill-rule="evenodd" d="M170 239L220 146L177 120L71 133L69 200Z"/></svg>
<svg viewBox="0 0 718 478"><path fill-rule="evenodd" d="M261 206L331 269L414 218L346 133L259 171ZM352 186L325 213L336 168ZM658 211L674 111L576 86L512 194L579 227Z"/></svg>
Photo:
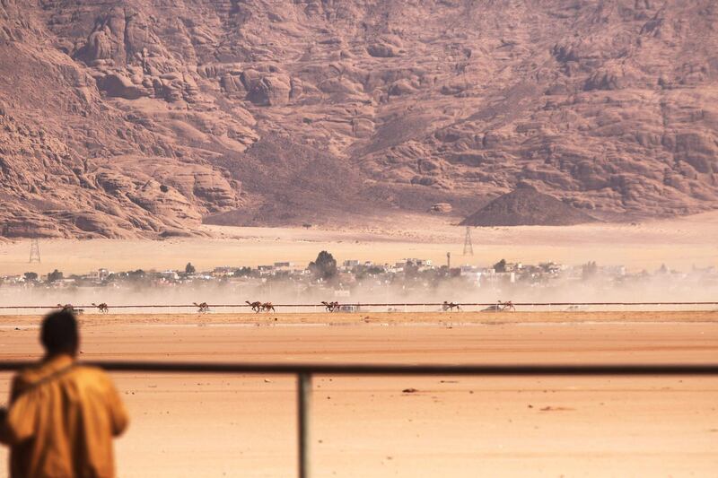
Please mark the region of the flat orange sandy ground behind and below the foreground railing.
<svg viewBox="0 0 718 478"><path fill-rule="evenodd" d="M39 356L3 316L0 358ZM276 320L275 320L276 318ZM85 360L708 363L716 312L86 315ZM118 476L295 475L294 378L115 374ZM9 376L0 377L7 396ZM414 388L415 392L403 390ZM315 377L312 476L715 476L718 377ZM6 469L0 455L0 476Z"/></svg>

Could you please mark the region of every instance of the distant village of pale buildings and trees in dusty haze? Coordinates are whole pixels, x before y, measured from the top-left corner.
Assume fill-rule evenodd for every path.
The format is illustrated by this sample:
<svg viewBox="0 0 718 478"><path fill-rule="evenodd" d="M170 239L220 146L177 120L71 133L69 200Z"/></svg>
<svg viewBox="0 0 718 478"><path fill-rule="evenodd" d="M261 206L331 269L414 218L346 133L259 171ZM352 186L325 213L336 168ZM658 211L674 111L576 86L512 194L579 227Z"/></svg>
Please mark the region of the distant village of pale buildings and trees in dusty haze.
<svg viewBox="0 0 718 478"><path fill-rule="evenodd" d="M273 292L285 291L285 297L296 296L298 300L323 297L327 300L348 301L358 298L361 295L359 291L366 294L389 289L407 296L430 291L443 291L447 296L451 295L452 290L464 294L471 291L496 291L510 298L514 291L519 290L526 295L526 291L546 291L581 283L591 283L594 288L608 290L657 280L687 291L696 287L718 288L718 271L713 266L690 266L687 272L661 266L655 271L629 274L624 266L598 265L595 262L578 266L555 262L529 265L503 259L483 267L452 266L449 261L447 264L436 265L431 260L421 258L406 258L394 264L375 264L361 260L337 263L330 253L322 251L309 265L276 262L258 267L226 265L200 271L188 263L180 269L164 271L137 269L118 272L101 268L88 274L64 274L54 270L41 275L34 272L0 275L0 293L7 296L18 288L161 291L180 287L201 289L220 286L248 298L250 295L272 295Z"/></svg>

